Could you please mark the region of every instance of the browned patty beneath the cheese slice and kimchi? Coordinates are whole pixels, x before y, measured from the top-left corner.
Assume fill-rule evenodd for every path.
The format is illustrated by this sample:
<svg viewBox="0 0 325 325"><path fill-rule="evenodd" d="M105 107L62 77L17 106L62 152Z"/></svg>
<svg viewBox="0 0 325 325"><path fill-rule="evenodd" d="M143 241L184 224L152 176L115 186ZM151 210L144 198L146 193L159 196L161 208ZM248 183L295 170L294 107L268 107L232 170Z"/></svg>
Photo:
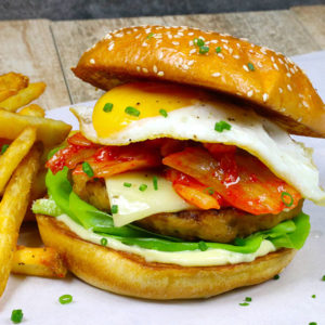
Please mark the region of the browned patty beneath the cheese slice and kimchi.
<svg viewBox="0 0 325 325"><path fill-rule="evenodd" d="M74 176L73 180L74 191L83 200L101 210L109 210L104 182L100 180L87 182L88 178L82 176ZM246 237L255 232L271 229L284 220L292 219L301 211L302 204L303 199L295 209L278 214L255 216L236 208L184 210L153 214L134 223L150 231L185 240L231 243L236 237Z"/></svg>

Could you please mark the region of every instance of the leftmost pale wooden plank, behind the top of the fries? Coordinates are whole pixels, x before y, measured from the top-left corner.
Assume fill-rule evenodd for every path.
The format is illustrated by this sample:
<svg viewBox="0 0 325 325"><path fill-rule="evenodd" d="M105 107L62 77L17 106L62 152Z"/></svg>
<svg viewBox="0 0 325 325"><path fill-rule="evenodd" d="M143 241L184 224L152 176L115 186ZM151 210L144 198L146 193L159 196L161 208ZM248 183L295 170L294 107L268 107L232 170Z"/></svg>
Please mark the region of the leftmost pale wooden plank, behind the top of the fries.
<svg viewBox="0 0 325 325"><path fill-rule="evenodd" d="M70 103L49 21L0 22L0 74L22 73L48 87L37 101L46 109Z"/></svg>

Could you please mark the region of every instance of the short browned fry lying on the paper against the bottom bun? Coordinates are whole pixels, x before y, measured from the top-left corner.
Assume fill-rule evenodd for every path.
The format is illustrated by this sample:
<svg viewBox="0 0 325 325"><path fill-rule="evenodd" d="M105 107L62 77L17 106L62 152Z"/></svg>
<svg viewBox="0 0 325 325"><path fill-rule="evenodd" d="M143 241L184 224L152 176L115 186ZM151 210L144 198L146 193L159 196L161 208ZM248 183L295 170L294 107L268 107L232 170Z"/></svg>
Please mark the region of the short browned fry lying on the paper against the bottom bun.
<svg viewBox="0 0 325 325"><path fill-rule="evenodd" d="M11 271L43 277L65 277L66 268L60 253L51 247L17 246Z"/></svg>

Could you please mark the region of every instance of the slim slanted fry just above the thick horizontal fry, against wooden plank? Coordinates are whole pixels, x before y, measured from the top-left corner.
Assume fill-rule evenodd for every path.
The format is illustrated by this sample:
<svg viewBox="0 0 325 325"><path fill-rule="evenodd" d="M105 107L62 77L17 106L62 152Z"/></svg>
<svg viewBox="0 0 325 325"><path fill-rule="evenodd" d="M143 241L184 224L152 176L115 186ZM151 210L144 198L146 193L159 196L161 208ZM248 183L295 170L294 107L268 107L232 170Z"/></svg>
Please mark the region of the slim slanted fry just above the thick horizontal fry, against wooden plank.
<svg viewBox="0 0 325 325"><path fill-rule="evenodd" d="M16 112L20 107L28 105L38 99L46 90L46 87L44 82L29 83L27 88L20 90L17 94L0 102L0 107L10 112Z"/></svg>

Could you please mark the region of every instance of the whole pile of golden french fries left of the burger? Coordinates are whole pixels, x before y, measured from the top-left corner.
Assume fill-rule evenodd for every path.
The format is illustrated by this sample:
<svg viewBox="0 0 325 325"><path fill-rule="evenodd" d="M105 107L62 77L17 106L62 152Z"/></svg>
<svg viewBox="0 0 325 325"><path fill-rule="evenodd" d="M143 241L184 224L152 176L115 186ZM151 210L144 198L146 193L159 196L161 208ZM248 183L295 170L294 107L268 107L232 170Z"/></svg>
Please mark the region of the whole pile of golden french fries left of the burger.
<svg viewBox="0 0 325 325"><path fill-rule="evenodd" d="M29 83L20 74L0 76L0 297L11 272L66 274L53 248L16 246L22 222L31 214L30 202L46 193L44 157L70 131L70 126L44 118L44 109L30 104L44 89L46 83Z"/></svg>

